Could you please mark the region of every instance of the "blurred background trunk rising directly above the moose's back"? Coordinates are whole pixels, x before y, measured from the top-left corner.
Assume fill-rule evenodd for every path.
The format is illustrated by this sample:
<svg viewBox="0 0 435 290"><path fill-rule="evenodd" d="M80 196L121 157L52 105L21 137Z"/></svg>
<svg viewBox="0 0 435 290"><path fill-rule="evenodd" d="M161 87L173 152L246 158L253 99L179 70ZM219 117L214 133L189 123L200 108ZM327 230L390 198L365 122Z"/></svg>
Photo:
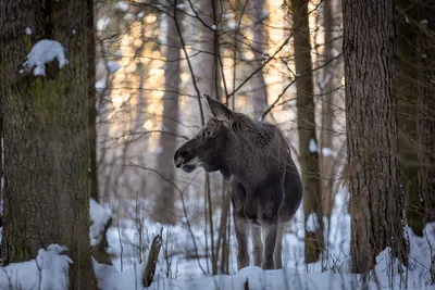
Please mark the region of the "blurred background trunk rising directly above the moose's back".
<svg viewBox="0 0 435 290"><path fill-rule="evenodd" d="M263 24L263 9L264 0L249 1L249 13L252 21L252 43L251 49L256 55L253 62L253 70L259 67L264 60L264 46L266 45L264 24ZM252 106L253 116L260 117L268 106L268 90L264 83L263 70L257 72L251 79L252 84Z"/></svg>

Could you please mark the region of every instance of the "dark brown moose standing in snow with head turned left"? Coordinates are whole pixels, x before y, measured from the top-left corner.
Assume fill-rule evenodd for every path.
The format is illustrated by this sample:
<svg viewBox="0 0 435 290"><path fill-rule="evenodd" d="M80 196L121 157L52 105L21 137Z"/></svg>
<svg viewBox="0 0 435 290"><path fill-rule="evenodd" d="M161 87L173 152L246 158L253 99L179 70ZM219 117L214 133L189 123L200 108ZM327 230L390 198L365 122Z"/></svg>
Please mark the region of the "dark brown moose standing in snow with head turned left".
<svg viewBox="0 0 435 290"><path fill-rule="evenodd" d="M284 227L303 194L289 146L275 125L254 122L208 94L204 99L211 117L176 150L175 167L186 173L200 166L206 172L220 171L229 182L238 269L250 263L249 231L253 265L282 268Z"/></svg>

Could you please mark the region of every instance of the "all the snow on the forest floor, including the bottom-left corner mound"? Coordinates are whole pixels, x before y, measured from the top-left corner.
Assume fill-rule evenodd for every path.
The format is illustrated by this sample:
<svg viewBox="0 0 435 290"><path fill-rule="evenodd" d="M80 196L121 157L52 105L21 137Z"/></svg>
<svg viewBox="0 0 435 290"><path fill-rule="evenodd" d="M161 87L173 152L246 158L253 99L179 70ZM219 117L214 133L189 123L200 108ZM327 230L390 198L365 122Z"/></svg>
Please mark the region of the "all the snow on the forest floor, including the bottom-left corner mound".
<svg viewBox="0 0 435 290"><path fill-rule="evenodd" d="M303 218L301 210L287 226L283 243L283 269L262 270L250 266L237 272L237 247L234 232L229 245L229 274L212 276L210 261L186 259L194 252L190 232L179 225L163 229L163 251L160 252L157 273L149 289L434 289L431 286L431 257L435 255L435 223L427 224L424 237L407 228L410 244L409 265L400 265L389 249L376 257L376 267L369 275L350 274L350 217L346 209L346 192L339 191L326 228L327 250L322 261L303 263ZM137 203L137 201L136 201ZM198 201L196 202L198 204ZM189 203L195 204L195 203ZM135 204L134 206L137 206ZM92 209L92 205L91 205ZM136 207L137 209L137 207ZM104 218L104 212L99 213ZM219 213L216 214L216 220ZM94 261L99 288L103 290L142 289L144 261L148 247L161 225L147 217L116 219L108 231L109 252L113 266ZM315 220L313 220L315 223ZM92 228L91 228L92 231ZM140 235L139 235L140 232ZM196 243L204 253L204 225L192 226ZM92 232L91 232L92 235ZM64 249L51 245L41 249L38 257L25 263L11 264L0 270L0 289L63 289L65 270L71 261L60 254ZM164 252L167 253L166 259ZM203 255L203 254L202 254ZM201 265L201 266L199 266ZM204 272L202 269L204 269ZM432 269L433 270L433 269ZM248 286L248 288L246 288Z"/></svg>

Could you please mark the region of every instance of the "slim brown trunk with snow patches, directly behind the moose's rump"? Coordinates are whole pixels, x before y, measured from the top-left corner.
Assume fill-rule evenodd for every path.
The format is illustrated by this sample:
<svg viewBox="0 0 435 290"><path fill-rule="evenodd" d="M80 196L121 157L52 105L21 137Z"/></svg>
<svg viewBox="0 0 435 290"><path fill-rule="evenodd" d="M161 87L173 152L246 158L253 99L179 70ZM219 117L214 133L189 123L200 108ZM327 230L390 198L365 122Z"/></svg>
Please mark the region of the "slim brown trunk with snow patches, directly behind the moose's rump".
<svg viewBox="0 0 435 290"><path fill-rule="evenodd" d="M308 26L308 1L291 0L299 133L299 163L304 186L306 262L319 260L323 249L323 211L315 137L313 76Z"/></svg>

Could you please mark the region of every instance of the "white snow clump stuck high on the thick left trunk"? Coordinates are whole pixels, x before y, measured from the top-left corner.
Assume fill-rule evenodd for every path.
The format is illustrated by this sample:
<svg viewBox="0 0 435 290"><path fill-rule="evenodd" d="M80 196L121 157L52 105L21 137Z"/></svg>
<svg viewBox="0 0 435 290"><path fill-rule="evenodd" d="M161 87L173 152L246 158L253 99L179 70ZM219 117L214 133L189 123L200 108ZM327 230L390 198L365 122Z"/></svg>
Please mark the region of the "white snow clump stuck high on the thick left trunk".
<svg viewBox="0 0 435 290"><path fill-rule="evenodd" d="M59 68L69 63L65 58L65 49L59 41L42 39L32 48L27 61L23 65L27 71L33 70L34 76L45 76L46 64L55 59L59 62Z"/></svg>

